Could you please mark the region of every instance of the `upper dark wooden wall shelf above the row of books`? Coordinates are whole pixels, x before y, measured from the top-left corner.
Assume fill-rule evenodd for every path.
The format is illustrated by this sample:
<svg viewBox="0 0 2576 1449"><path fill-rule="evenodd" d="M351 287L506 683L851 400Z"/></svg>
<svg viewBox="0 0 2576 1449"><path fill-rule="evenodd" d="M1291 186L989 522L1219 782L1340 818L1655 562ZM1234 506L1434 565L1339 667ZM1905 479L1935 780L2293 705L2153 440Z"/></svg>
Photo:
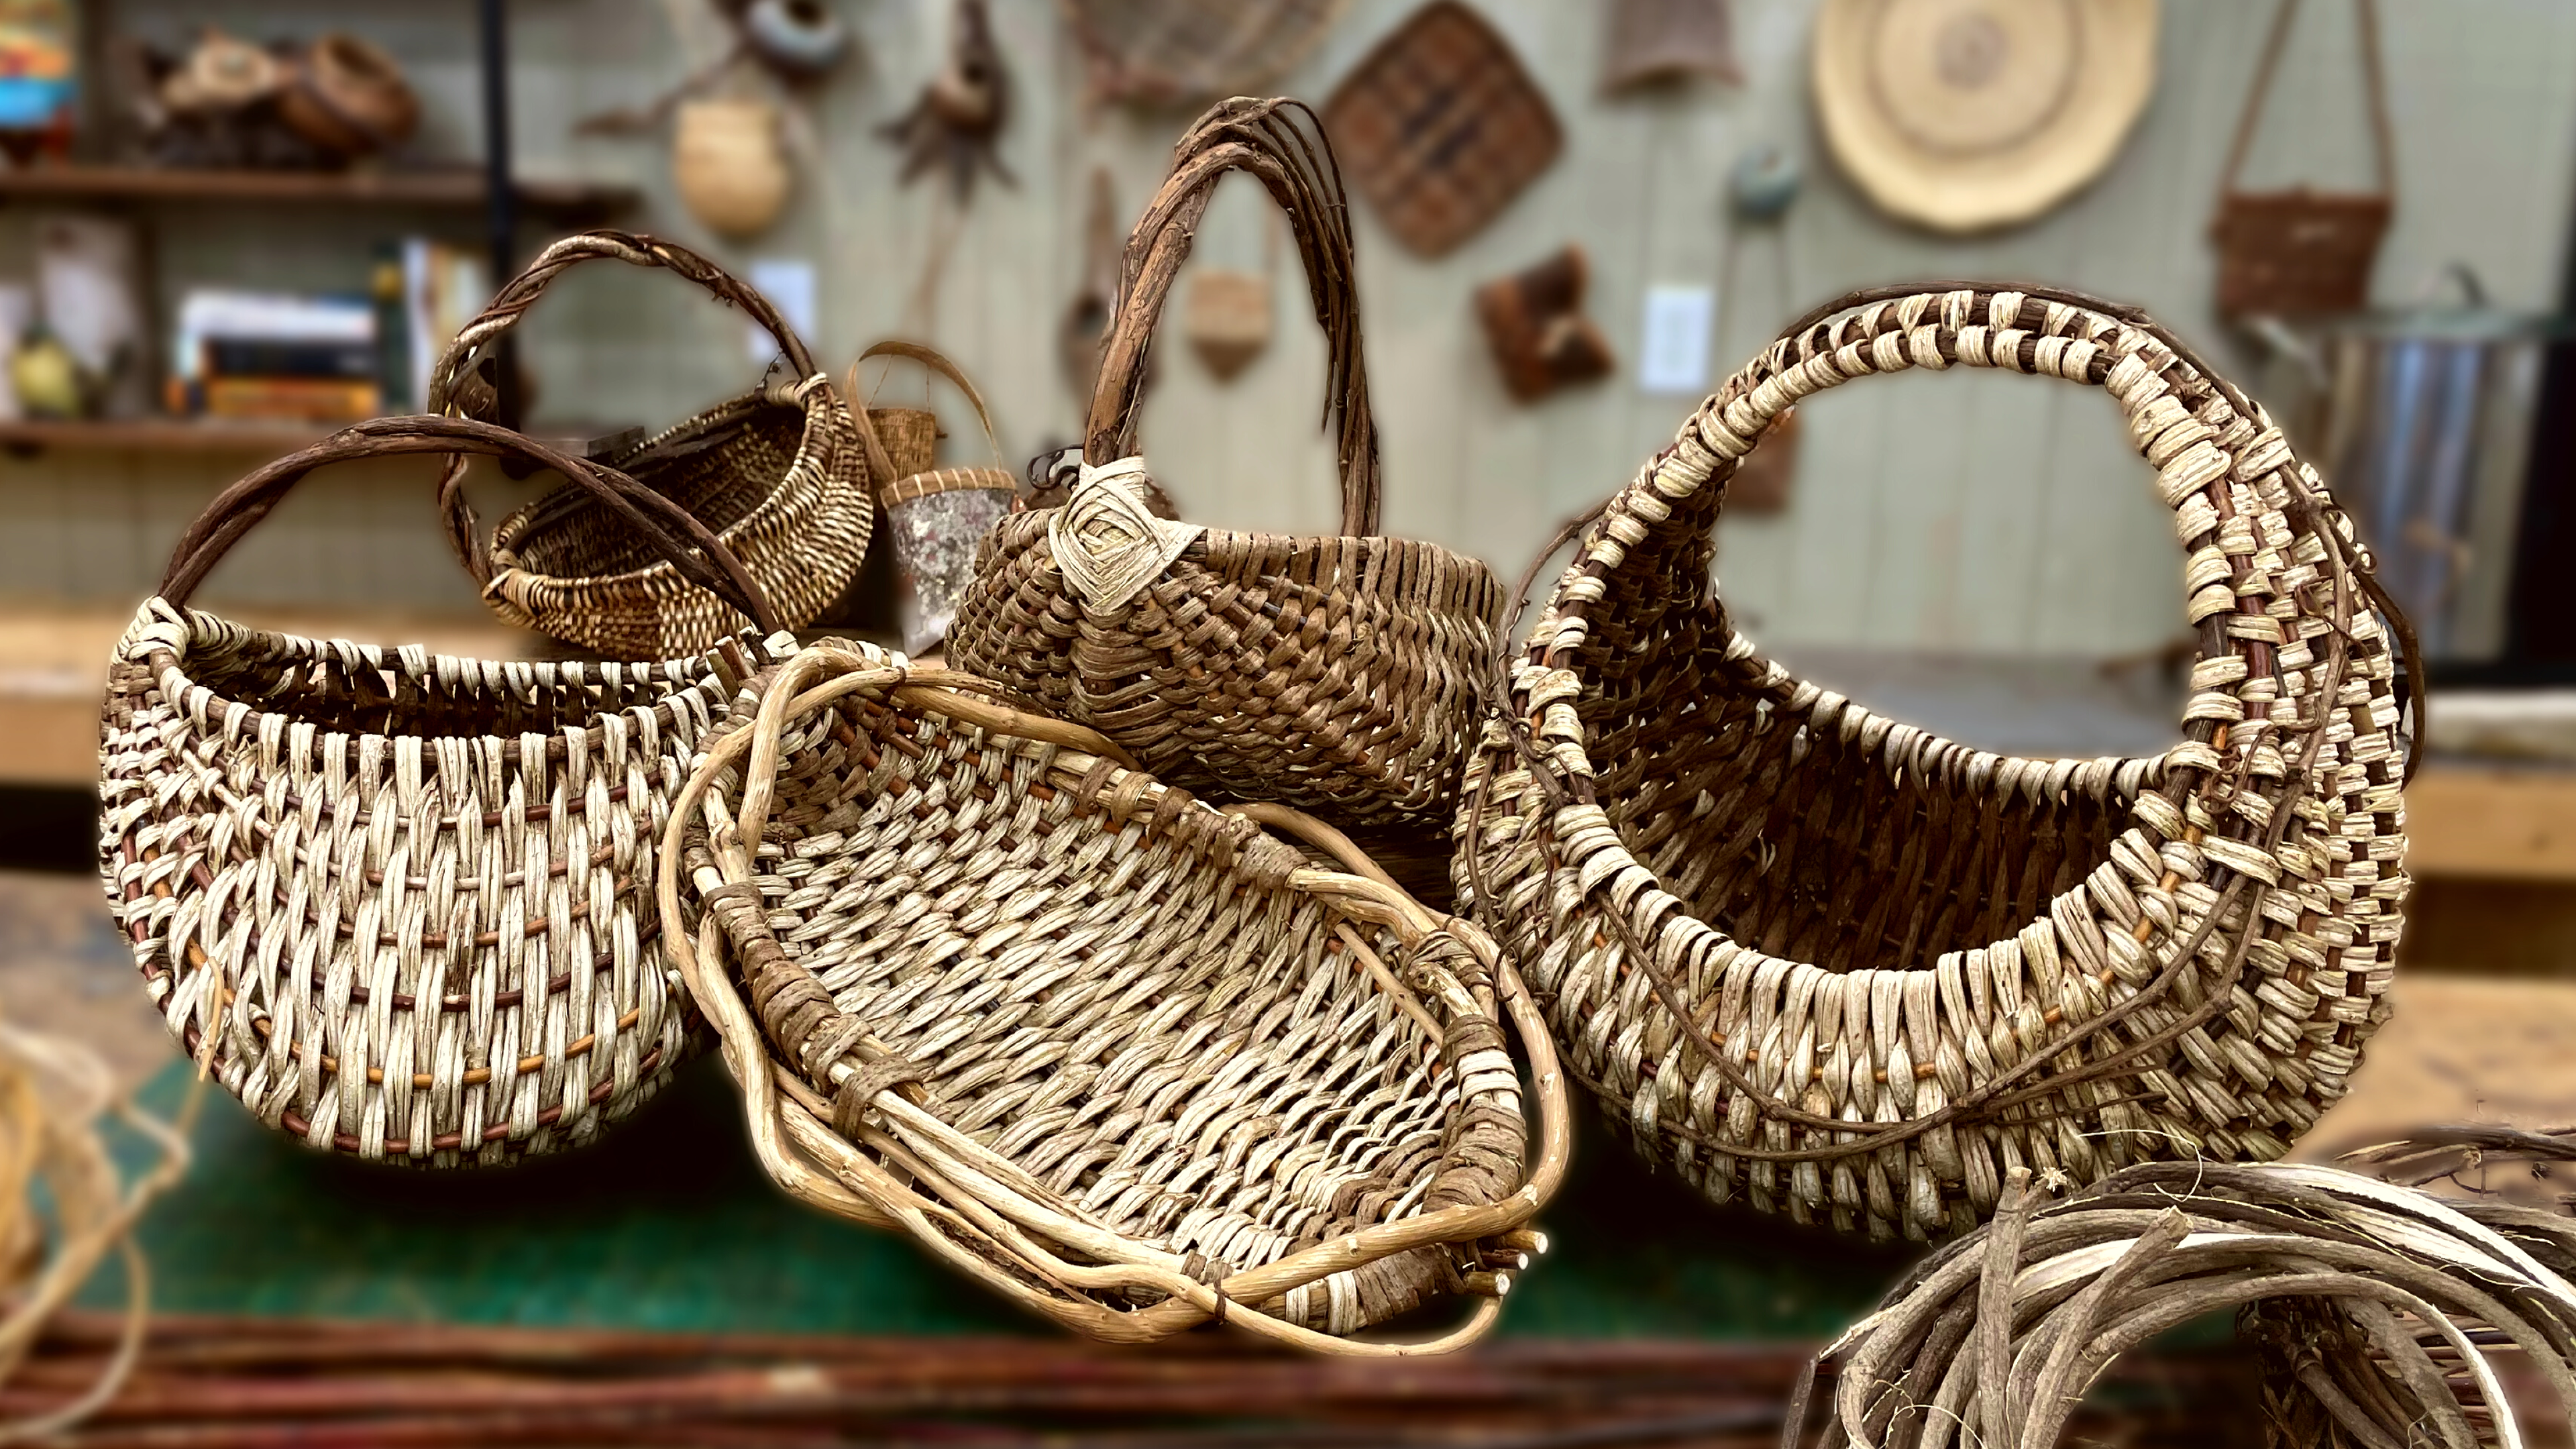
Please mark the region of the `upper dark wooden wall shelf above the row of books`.
<svg viewBox="0 0 2576 1449"><path fill-rule="evenodd" d="M188 170L139 165L36 165L0 170L0 201L307 201L358 206L482 206L479 170ZM520 180L531 211L605 214L634 206L634 186Z"/></svg>

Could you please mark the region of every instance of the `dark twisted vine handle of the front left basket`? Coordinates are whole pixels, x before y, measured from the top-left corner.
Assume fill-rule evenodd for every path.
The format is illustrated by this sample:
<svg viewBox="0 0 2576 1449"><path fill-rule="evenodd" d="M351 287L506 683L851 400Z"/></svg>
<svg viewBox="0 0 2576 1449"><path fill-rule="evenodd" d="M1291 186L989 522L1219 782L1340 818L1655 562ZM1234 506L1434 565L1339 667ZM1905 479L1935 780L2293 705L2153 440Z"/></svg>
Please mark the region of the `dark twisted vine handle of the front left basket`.
<svg viewBox="0 0 2576 1449"><path fill-rule="evenodd" d="M170 549L170 567L162 572L160 598L185 606L196 585L232 552L232 544L242 541L242 534L255 529L260 518L268 518L286 492L296 482L304 482L304 474L330 464L399 454L451 456L446 477L438 480L440 516L456 557L464 559L466 572L479 585L489 585L495 575L489 549L477 539L474 508L466 503L464 487L459 487L464 477L461 454L518 456L572 480L574 487L605 503L629 529L641 534L683 578L747 614L762 634L778 632L778 616L770 614L768 596L760 590L752 570L742 567L742 559L688 508L613 467L559 454L510 428L435 415L371 418L234 482L178 536L178 547Z"/></svg>

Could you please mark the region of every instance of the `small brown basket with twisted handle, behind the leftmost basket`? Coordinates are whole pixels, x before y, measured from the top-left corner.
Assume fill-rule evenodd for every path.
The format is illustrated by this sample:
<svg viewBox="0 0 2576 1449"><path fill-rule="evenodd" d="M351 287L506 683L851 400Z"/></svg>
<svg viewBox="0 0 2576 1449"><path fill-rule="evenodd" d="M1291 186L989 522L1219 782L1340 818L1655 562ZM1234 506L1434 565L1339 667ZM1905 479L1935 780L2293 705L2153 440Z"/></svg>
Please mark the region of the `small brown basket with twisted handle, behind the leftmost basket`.
<svg viewBox="0 0 2576 1449"><path fill-rule="evenodd" d="M567 268L613 258L670 268L770 330L788 376L719 402L598 462L696 513L760 580L783 629L824 611L868 557L868 459L850 407L793 327L711 260L629 232L546 248L469 322L430 371L430 413L484 418L500 340ZM492 611L520 629L621 660L706 650L742 629L739 608L693 585L592 492L554 490L502 518L489 557L464 554Z"/></svg>

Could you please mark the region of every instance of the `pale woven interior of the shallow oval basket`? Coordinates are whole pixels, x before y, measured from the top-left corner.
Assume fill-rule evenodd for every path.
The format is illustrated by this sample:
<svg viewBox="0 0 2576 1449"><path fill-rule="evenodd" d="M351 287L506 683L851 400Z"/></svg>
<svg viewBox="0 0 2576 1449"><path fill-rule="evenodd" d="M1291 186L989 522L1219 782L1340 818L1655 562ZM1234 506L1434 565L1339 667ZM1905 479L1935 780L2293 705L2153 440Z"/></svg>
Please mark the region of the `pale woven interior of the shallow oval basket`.
<svg viewBox="0 0 2576 1449"><path fill-rule="evenodd" d="M1396 938L1175 841L1177 792L1115 822L1046 753L866 696L793 727L755 871L791 959L1121 1235L1242 1266L1412 1212L1455 1075L1337 926L1388 969Z"/></svg>

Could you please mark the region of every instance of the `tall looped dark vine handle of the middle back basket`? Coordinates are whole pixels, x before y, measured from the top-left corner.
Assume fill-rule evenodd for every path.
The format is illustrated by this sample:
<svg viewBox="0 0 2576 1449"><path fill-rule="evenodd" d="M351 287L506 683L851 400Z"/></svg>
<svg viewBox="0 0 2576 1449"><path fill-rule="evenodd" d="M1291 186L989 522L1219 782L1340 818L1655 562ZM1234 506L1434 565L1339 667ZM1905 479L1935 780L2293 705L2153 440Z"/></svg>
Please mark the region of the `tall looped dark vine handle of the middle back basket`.
<svg viewBox="0 0 2576 1449"><path fill-rule="evenodd" d="M1118 312L1100 343L1100 384L1084 431L1084 462L1108 467L1136 454L1146 358L1172 278L1190 258L1198 219L1229 170L1255 175L1288 214L1314 320L1324 327L1329 371L1324 423L1334 428L1342 472L1342 534L1378 531L1378 428L1368 410L1368 366L1360 361L1360 291L1350 253L1350 201L1342 162L1324 124L1303 101L1218 101L1172 147L1172 175L1128 235L1118 276Z"/></svg>

